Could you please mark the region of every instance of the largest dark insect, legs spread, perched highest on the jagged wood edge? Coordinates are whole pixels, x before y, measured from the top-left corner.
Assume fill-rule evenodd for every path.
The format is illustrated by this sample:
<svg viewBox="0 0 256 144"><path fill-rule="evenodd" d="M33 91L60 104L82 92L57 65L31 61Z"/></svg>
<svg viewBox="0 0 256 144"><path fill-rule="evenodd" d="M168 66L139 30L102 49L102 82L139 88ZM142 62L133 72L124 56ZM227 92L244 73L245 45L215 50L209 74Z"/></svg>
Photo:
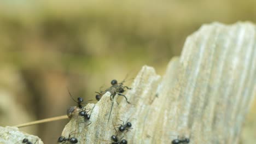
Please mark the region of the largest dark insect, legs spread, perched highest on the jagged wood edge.
<svg viewBox="0 0 256 144"><path fill-rule="evenodd" d="M124 94L121 94L121 93L124 93L124 92L125 92L125 88L131 89L131 88L127 87L127 86L124 86L124 82L125 82L125 80L122 81L122 82L120 82L120 83L118 83L117 80L112 80L112 81L111 81L111 85L112 85L112 86L109 87L109 88L107 88L106 91L101 91L100 93L99 93L99 92L95 92L95 93L97 93L96 99L97 99L97 100L100 100L101 97L102 97L102 95L104 95L106 92L110 92L110 94L111 94L111 97L110 97L111 100L115 97L116 94L118 94L118 95L120 95L120 96L123 96L123 97L126 99L126 102L127 102L128 104L130 104L130 102L127 100L126 96L125 96Z"/></svg>

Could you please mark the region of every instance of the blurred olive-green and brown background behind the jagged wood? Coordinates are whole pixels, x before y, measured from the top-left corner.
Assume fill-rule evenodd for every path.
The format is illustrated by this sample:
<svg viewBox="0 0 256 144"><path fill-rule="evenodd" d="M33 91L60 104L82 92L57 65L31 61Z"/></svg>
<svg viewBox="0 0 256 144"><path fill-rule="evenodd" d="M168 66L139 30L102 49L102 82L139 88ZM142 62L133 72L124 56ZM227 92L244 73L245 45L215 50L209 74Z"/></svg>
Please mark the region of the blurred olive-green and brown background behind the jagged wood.
<svg viewBox="0 0 256 144"><path fill-rule="evenodd" d="M145 64L160 75L203 23L256 22L255 0L0 2L0 125L66 114ZM256 140L256 106L241 143ZM68 120L21 128L55 143Z"/></svg>

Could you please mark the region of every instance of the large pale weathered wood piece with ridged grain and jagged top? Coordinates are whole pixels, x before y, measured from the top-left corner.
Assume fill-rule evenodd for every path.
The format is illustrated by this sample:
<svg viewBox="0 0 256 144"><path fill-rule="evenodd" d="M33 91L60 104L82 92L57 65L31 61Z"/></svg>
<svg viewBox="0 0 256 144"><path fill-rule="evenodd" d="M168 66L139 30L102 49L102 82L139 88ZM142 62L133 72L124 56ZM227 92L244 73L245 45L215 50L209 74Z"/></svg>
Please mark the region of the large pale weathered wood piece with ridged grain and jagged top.
<svg viewBox="0 0 256 144"><path fill-rule="evenodd" d="M75 131L79 143L110 143L113 124L129 119L133 129L119 133L129 143L237 143L255 95L256 37L251 23L202 26L190 35L181 58L173 58L163 79L144 66L119 105L110 93L91 111L91 124L73 117L62 132ZM87 108L88 108L87 107ZM112 124L113 123L113 124Z"/></svg>

